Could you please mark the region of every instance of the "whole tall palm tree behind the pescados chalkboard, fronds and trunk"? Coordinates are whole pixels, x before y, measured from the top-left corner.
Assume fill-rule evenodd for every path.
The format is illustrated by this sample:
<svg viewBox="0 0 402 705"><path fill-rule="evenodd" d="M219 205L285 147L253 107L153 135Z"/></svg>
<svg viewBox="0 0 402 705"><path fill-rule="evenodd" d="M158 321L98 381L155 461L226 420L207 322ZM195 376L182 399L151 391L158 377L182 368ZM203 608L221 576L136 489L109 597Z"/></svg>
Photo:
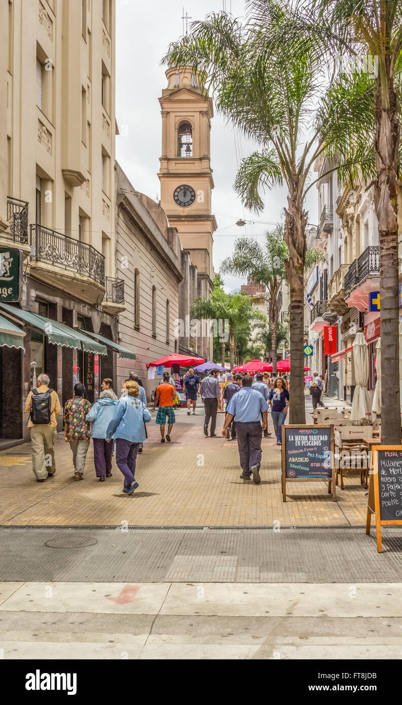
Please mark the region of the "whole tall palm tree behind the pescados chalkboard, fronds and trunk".
<svg viewBox="0 0 402 705"><path fill-rule="evenodd" d="M360 104L339 106L337 77L327 80L326 68L313 42L279 42L290 8L278 0L249 0L249 18L242 26L226 13L192 23L191 33L170 45L163 61L193 66L201 83L215 95L218 110L260 145L241 162L234 188L247 208L262 211L258 190L287 187L284 208L285 262L290 289L290 350L292 404L290 422L306 422L303 374L303 274L306 258L306 195L316 180L310 172L332 133L356 121ZM326 81L326 83L325 83ZM303 133L313 133L303 143ZM336 165L331 169L335 171Z"/></svg>

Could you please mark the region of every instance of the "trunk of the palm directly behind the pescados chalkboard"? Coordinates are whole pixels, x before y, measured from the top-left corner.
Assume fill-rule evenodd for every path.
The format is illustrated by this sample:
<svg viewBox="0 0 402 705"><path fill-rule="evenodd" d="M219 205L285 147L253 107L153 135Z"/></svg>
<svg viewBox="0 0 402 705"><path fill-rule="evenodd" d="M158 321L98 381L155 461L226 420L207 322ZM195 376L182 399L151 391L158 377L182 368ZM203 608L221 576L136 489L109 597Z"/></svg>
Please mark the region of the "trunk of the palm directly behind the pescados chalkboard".
<svg viewBox="0 0 402 705"><path fill-rule="evenodd" d="M287 276L290 289L290 379L289 423L305 424L304 404L304 260L308 213L301 207L299 196L288 197L289 210L285 209L285 237L289 248Z"/></svg>

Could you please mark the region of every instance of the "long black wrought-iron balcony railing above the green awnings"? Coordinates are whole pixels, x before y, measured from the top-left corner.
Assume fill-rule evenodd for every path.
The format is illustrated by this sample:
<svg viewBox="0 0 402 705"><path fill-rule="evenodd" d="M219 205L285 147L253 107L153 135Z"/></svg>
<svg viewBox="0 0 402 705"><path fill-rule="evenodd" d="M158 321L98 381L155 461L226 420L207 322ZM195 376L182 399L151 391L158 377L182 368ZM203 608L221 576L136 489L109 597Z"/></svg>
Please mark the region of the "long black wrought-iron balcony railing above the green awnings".
<svg viewBox="0 0 402 705"><path fill-rule="evenodd" d="M105 284L105 258L92 245L61 235L42 225L31 225L31 259L89 276Z"/></svg>

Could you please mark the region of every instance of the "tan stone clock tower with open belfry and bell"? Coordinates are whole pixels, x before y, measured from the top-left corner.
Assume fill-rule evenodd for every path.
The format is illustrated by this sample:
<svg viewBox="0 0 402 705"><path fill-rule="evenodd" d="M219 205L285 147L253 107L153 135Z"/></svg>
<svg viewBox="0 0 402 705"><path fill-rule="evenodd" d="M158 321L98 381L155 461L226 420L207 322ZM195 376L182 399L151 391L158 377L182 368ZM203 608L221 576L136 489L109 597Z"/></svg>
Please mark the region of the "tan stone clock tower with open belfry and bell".
<svg viewBox="0 0 402 705"><path fill-rule="evenodd" d="M159 98L161 207L196 266L196 295L207 297L213 288L212 247L217 228L211 213L212 98L203 93L191 67L168 68L166 78L168 87Z"/></svg>

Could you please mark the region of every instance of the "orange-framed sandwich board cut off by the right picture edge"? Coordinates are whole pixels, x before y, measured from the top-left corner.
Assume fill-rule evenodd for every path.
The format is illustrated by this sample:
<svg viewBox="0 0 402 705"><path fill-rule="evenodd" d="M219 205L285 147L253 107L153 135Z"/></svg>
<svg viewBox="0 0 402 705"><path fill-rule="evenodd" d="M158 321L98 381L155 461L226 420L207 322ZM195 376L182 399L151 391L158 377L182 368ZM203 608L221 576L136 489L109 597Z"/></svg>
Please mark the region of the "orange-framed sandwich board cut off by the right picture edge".
<svg viewBox="0 0 402 705"><path fill-rule="evenodd" d="M375 514L377 551L382 553L382 526L402 525L402 446L372 446L373 470L368 488L365 532Z"/></svg>

